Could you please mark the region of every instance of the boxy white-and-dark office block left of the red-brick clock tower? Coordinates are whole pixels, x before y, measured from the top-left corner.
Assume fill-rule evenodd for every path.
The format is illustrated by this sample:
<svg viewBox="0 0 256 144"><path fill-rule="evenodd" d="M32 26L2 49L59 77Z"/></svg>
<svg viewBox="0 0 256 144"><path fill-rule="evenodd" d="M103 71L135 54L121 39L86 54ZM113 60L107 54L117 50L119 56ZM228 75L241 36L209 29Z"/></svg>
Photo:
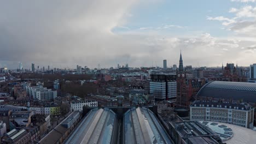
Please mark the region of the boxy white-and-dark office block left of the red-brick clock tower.
<svg viewBox="0 0 256 144"><path fill-rule="evenodd" d="M168 100L176 98L176 74L151 74L150 79L150 94L153 94L156 100Z"/></svg>

